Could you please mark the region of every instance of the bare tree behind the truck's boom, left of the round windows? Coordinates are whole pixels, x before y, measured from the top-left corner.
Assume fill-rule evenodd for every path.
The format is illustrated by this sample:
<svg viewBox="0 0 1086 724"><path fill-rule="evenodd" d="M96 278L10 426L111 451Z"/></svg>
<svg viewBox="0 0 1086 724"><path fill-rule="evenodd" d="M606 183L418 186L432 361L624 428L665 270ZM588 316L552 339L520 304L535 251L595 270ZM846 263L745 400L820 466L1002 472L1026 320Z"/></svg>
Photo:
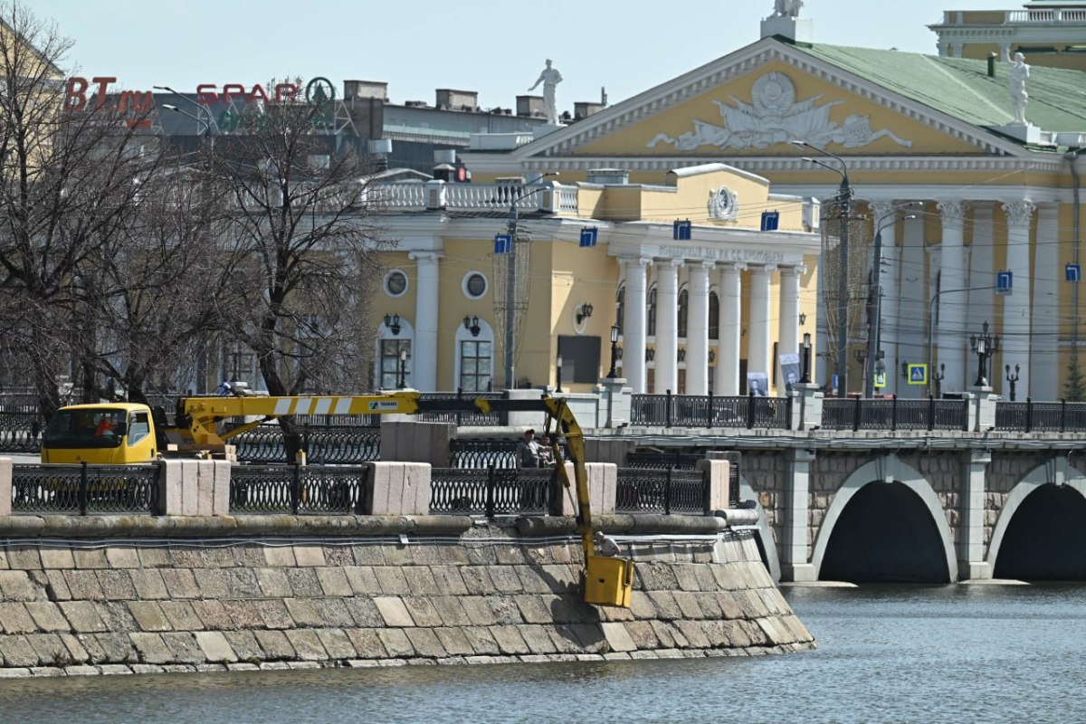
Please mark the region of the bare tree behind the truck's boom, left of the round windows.
<svg viewBox="0 0 1086 724"><path fill-rule="evenodd" d="M387 247L353 149L321 132L321 103L252 103L220 137L211 173L226 186L239 253L224 328L257 358L273 395L370 383L369 302ZM299 435L283 422L288 452Z"/></svg>

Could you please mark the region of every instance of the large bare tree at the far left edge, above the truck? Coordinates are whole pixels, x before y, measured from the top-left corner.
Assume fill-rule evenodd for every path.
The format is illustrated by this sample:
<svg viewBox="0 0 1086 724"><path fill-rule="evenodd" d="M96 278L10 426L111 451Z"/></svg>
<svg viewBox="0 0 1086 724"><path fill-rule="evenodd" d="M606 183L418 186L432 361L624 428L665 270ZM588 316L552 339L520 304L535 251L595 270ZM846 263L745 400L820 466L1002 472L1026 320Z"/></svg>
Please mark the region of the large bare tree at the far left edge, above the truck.
<svg viewBox="0 0 1086 724"><path fill-rule="evenodd" d="M49 415L58 378L92 372L76 358L97 331L83 316L92 263L162 158L139 135L148 109L72 102L61 71L72 43L55 26L17 0L0 2L0 333Z"/></svg>

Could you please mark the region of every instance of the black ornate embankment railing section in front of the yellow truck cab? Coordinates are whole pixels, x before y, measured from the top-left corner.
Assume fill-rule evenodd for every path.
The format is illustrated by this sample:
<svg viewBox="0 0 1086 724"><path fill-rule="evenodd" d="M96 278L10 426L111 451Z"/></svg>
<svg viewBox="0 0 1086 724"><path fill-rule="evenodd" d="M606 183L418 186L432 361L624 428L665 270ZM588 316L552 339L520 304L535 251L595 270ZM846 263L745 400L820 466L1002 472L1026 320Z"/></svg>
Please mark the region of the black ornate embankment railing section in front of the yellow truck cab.
<svg viewBox="0 0 1086 724"><path fill-rule="evenodd" d="M157 465L12 466L12 512L153 513L159 509Z"/></svg>

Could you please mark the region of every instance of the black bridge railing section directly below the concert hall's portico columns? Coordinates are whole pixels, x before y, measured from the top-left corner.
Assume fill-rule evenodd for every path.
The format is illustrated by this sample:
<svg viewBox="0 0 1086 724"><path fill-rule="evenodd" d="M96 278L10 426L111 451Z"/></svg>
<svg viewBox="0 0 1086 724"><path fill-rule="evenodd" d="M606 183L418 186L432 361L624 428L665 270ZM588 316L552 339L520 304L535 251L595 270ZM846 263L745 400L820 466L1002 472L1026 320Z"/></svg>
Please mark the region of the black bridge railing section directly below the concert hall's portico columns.
<svg viewBox="0 0 1086 724"><path fill-rule="evenodd" d="M787 430L792 397L633 395L630 422L665 428L768 428Z"/></svg>

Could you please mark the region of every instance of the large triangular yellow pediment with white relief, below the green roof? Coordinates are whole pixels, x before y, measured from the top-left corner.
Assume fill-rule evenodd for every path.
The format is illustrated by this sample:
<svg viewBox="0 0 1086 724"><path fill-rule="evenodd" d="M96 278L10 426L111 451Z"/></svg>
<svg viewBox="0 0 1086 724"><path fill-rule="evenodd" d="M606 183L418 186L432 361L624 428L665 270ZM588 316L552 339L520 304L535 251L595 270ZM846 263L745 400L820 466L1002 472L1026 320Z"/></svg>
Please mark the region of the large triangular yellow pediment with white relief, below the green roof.
<svg viewBox="0 0 1086 724"><path fill-rule="evenodd" d="M902 56L913 62L925 58ZM554 156L795 156L794 139L858 155L1026 153L1011 139L891 86L810 49L766 38L512 155L522 162ZM1009 120L1009 101L1006 109L995 99L982 102L980 119L1006 115Z"/></svg>

